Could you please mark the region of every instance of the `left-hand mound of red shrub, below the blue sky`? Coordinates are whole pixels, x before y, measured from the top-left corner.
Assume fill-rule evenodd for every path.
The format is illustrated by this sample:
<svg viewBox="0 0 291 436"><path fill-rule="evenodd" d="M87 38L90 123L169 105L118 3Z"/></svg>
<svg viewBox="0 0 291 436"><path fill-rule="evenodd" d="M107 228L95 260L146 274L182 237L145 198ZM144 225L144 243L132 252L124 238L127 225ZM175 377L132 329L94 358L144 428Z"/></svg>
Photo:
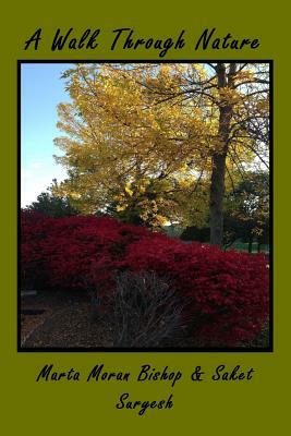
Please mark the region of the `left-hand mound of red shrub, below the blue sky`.
<svg viewBox="0 0 291 436"><path fill-rule="evenodd" d="M88 283L93 268L102 276L105 269L112 271L126 246L148 234L144 228L111 218L47 218L23 211L21 222L23 286L33 283L43 289L87 289L96 284ZM107 279L108 274L104 281Z"/></svg>

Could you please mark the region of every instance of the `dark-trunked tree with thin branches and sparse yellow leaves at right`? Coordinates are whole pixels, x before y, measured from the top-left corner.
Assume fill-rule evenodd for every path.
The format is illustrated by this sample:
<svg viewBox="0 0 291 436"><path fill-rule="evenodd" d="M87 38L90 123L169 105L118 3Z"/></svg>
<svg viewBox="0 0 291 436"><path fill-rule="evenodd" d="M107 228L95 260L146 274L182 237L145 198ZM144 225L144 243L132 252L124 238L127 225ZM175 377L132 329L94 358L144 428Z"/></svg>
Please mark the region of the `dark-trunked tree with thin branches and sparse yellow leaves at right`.
<svg viewBox="0 0 291 436"><path fill-rule="evenodd" d="M259 63L172 65L172 77L144 84L160 101L187 104L202 109L208 125L206 150L211 158L209 192L210 243L223 238L226 172L231 180L234 165L242 178L245 166L256 158L268 167L269 71ZM180 73L180 74L179 74Z"/></svg>

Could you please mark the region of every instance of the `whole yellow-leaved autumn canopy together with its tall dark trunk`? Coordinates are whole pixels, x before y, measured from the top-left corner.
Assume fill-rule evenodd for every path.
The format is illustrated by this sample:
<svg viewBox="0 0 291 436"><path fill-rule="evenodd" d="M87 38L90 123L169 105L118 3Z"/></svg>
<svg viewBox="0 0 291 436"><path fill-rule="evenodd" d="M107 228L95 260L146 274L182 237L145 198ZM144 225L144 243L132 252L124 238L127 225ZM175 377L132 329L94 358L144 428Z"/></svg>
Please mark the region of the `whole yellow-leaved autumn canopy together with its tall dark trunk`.
<svg viewBox="0 0 291 436"><path fill-rule="evenodd" d="M267 65L80 64L64 76L62 192L85 213L113 201L162 221L202 209L208 185L210 242L220 244L226 173L267 161Z"/></svg>

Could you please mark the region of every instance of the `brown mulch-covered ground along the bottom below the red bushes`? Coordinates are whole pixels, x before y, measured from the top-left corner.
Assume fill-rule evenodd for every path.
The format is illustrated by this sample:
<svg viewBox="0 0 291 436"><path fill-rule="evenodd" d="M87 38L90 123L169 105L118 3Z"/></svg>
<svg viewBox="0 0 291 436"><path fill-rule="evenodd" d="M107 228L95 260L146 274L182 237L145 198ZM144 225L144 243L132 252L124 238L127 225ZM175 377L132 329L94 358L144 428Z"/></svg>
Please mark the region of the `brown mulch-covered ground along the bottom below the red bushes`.
<svg viewBox="0 0 291 436"><path fill-rule="evenodd" d="M84 293L38 291L36 295L22 298L21 312L22 349L114 348L110 320L94 316L89 298ZM177 339L162 348L206 347L194 338ZM242 344L245 348L267 346L266 329L251 343Z"/></svg>

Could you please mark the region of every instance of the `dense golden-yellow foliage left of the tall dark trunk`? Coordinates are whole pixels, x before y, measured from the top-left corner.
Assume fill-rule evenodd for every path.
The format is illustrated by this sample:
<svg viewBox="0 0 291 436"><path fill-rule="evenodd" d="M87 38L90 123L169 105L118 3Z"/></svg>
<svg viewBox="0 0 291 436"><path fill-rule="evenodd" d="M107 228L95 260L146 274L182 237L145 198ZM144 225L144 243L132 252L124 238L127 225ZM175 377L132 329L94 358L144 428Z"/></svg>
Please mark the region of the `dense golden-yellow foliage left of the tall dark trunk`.
<svg viewBox="0 0 291 436"><path fill-rule="evenodd" d="M210 160L201 110L156 100L140 84L145 74L153 77L144 65L131 74L116 65L66 72L72 104L59 105L65 136L56 143L69 179L58 191L82 213L113 206L122 218L153 227L181 220L193 198L197 210L205 207L197 169L206 173ZM161 82L167 74L156 72Z"/></svg>

